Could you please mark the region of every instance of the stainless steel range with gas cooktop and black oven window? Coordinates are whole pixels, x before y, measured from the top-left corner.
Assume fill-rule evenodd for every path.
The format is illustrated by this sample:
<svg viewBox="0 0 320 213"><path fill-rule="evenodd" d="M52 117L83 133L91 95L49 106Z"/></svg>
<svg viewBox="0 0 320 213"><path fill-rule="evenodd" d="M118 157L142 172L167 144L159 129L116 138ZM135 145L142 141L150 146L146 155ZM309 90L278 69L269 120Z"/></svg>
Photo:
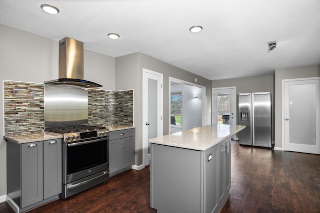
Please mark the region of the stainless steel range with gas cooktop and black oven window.
<svg viewBox="0 0 320 213"><path fill-rule="evenodd" d="M62 199L109 180L108 129L78 125L45 131L63 134Z"/></svg>

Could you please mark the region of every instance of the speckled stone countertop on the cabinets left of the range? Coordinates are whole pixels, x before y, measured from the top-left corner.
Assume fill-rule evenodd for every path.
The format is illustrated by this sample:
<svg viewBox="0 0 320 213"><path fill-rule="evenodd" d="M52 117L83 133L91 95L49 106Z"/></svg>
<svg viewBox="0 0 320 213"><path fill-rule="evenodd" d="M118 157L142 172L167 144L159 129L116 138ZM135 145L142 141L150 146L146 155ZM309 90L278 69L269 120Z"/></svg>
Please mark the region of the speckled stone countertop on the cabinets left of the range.
<svg viewBox="0 0 320 213"><path fill-rule="evenodd" d="M3 138L15 142L17 144L23 144L37 141L59 139L62 138L62 135L56 133L39 132L30 134L7 134L3 135Z"/></svg>

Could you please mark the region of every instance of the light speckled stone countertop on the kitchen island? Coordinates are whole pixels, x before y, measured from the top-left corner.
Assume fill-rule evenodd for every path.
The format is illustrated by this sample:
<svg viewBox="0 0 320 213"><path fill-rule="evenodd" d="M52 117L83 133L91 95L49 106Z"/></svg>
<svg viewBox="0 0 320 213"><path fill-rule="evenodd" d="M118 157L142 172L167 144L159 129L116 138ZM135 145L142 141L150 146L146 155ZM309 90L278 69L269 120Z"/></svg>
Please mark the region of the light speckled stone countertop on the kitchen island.
<svg viewBox="0 0 320 213"><path fill-rule="evenodd" d="M239 125L210 124L148 141L153 144L205 151L244 128L245 126Z"/></svg>

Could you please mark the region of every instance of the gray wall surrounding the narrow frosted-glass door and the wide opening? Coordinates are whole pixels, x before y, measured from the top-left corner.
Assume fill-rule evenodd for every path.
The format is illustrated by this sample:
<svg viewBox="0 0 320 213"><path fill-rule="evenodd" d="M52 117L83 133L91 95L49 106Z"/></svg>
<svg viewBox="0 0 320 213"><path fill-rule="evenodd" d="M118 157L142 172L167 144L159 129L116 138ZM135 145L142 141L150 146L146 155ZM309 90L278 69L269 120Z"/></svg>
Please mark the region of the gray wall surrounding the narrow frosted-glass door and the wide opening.
<svg viewBox="0 0 320 213"><path fill-rule="evenodd" d="M143 53L115 58L115 89L134 89L135 165L142 165L142 69L163 74L163 135L169 134L169 77L205 86L206 124L211 123L211 81ZM197 82L194 81L197 78ZM167 116L166 116L167 115Z"/></svg>

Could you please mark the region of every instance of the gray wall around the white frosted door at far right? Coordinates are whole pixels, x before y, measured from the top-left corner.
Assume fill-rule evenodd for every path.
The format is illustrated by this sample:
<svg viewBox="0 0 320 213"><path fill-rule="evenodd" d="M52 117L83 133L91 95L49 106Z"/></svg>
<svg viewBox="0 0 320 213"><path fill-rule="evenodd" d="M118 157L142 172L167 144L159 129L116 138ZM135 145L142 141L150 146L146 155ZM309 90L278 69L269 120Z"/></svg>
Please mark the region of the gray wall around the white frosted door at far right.
<svg viewBox="0 0 320 213"><path fill-rule="evenodd" d="M274 122L274 147L282 148L282 79L320 77L320 65L310 65L292 68L276 69L274 74L275 90L275 122ZM303 109L301 109L303 113Z"/></svg>

